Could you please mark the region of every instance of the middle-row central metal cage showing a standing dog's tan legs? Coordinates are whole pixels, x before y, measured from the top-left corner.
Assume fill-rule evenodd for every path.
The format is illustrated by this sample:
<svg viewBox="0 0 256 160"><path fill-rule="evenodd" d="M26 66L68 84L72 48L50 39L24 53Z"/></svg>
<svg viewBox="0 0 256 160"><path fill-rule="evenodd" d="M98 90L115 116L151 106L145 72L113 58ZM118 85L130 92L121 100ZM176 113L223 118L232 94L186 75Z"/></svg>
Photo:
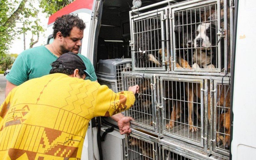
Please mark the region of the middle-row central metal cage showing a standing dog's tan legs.
<svg viewBox="0 0 256 160"><path fill-rule="evenodd" d="M163 135L204 147L204 79L160 76Z"/></svg>

